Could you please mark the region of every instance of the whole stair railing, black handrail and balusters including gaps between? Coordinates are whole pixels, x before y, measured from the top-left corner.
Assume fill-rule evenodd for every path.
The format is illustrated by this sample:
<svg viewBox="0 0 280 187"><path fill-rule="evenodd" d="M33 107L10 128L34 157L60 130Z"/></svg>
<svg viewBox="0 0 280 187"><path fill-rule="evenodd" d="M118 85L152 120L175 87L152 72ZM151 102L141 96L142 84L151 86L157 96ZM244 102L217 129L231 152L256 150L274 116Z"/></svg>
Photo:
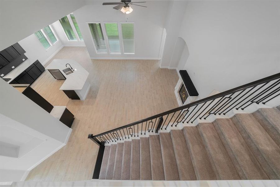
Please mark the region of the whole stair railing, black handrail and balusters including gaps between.
<svg viewBox="0 0 280 187"><path fill-rule="evenodd" d="M280 73L107 132L97 135L89 134L88 138L94 141L97 145L103 147L105 144L124 141L125 139L132 137L148 136L151 132L158 133L163 129L166 130L168 126L177 127L180 123L193 123L198 119L207 119L208 117L211 117L211 115L226 115L232 109L244 110L253 103L265 104L278 97L280 95L279 84Z"/></svg>

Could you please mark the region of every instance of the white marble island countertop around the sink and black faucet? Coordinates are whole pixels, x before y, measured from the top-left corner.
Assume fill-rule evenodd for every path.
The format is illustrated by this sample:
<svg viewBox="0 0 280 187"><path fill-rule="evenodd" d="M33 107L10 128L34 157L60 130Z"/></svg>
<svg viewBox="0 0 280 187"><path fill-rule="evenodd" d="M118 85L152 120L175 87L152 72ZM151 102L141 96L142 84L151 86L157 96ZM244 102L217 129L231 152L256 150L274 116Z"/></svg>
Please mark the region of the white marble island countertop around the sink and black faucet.
<svg viewBox="0 0 280 187"><path fill-rule="evenodd" d="M69 63L74 72L66 75L63 70ZM67 65L69 67L69 65ZM71 59L54 59L46 68L46 70L60 70L66 80L60 87L60 90L81 90L86 82L89 73L75 60Z"/></svg>

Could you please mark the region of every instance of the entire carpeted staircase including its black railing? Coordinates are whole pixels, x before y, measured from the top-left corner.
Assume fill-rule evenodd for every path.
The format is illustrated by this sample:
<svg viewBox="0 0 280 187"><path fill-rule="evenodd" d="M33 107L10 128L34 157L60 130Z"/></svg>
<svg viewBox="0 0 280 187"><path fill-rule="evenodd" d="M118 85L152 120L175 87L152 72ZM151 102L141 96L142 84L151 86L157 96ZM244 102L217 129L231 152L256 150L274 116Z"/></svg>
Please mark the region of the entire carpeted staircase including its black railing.
<svg viewBox="0 0 280 187"><path fill-rule="evenodd" d="M89 134L93 179L279 180L279 84L280 73Z"/></svg>

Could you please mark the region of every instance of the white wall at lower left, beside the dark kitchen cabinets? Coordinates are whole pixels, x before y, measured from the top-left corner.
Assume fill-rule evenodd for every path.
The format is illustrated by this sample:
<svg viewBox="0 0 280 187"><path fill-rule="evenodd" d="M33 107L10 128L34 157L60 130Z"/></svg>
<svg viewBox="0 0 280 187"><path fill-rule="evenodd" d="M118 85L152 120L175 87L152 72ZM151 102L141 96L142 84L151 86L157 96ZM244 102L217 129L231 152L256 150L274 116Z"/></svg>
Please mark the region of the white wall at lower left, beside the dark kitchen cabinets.
<svg viewBox="0 0 280 187"><path fill-rule="evenodd" d="M18 157L0 155L0 182L22 181L67 143L72 129L2 79L0 87L0 141L20 146L22 152Z"/></svg>

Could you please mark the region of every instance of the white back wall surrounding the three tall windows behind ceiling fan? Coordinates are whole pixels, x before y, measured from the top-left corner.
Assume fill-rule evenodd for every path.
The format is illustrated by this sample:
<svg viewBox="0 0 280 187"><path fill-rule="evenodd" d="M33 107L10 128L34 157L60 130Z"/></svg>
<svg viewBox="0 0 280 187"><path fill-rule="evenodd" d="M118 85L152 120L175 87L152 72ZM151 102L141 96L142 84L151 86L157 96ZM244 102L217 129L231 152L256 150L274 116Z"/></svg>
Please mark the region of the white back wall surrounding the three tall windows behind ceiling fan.
<svg viewBox="0 0 280 187"><path fill-rule="evenodd" d="M113 9L113 5L103 6L102 1L87 1L86 6L73 12L91 58L159 59L168 1L142 4L147 8L134 5L133 12L127 15L127 21L134 22L135 54L96 54L86 22L125 22L126 15Z"/></svg>

